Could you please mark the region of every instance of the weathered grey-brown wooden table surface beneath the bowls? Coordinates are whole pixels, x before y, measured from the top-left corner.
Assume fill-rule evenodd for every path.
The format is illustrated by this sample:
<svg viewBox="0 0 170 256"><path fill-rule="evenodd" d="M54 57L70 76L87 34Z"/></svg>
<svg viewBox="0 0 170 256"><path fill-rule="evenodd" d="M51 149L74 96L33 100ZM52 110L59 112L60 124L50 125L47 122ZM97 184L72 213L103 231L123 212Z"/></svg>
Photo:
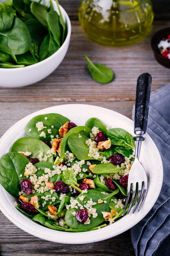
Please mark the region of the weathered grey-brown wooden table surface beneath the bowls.
<svg viewBox="0 0 170 256"><path fill-rule="evenodd" d="M71 103L97 105L131 117L139 74L152 75L152 91L170 82L170 70L159 65L150 48L152 34L169 26L167 20L155 20L150 35L142 42L124 48L98 45L89 40L76 19L74 1L61 4L72 18L70 47L64 61L46 79L23 88L0 88L0 137L16 121L42 108ZM77 1L75 1L77 2ZM113 82L100 85L92 80L84 55L111 67ZM87 245L64 245L41 240L22 231L0 212L0 255L93 255L133 256L130 231L115 238Z"/></svg>

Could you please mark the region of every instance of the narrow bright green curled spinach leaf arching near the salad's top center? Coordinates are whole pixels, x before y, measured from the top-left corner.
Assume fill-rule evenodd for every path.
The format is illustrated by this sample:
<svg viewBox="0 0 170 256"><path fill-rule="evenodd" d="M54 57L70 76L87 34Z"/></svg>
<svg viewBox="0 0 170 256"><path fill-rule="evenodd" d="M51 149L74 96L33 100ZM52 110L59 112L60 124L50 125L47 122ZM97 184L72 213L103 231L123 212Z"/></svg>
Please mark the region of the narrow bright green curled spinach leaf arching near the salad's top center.
<svg viewBox="0 0 170 256"><path fill-rule="evenodd" d="M67 134L64 136L64 138L62 139L60 159L64 158L64 153L66 152L66 150L68 150L67 142L68 142L68 138L71 135L73 135L75 133L78 133L78 134L80 133L81 135L89 136L91 132L92 132L91 129L89 129L86 126L77 126L77 127L72 128L71 130L69 130L67 132Z"/></svg>

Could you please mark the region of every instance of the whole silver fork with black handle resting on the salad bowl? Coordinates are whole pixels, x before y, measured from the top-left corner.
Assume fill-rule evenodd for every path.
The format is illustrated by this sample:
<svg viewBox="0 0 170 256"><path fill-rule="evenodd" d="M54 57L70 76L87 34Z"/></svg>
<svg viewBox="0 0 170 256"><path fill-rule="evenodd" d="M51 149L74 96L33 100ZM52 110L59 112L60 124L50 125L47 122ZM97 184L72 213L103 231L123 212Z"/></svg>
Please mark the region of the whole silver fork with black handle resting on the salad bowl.
<svg viewBox="0 0 170 256"><path fill-rule="evenodd" d="M124 216L129 204L127 214L130 213L135 198L136 202L132 213L139 212L147 193L148 177L144 167L139 162L139 155L141 142L145 140L143 135L146 133L147 128L151 82L152 77L148 73L141 74L137 79L134 123L134 133L136 136L133 138L135 140L135 161L129 172L128 196L122 216Z"/></svg>

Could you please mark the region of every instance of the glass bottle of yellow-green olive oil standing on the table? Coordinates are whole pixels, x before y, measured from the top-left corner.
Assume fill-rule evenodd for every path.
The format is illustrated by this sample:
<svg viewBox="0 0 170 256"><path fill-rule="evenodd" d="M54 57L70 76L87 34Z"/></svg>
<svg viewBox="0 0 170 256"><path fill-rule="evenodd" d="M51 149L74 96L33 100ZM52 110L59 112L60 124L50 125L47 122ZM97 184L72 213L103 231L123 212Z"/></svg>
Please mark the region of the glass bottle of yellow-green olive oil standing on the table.
<svg viewBox="0 0 170 256"><path fill-rule="evenodd" d="M141 40L154 18L150 0L82 0L78 15L89 38L110 46Z"/></svg>

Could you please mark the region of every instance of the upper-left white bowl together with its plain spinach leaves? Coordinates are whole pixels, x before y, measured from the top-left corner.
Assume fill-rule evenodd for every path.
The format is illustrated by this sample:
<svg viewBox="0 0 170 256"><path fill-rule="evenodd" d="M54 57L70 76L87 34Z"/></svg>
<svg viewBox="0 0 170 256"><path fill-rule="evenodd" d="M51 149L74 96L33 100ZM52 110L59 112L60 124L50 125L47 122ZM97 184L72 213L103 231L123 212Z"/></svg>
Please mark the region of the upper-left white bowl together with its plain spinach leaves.
<svg viewBox="0 0 170 256"><path fill-rule="evenodd" d="M0 86L26 86L51 74L71 36L71 22L58 1L6 0L0 13Z"/></svg>

